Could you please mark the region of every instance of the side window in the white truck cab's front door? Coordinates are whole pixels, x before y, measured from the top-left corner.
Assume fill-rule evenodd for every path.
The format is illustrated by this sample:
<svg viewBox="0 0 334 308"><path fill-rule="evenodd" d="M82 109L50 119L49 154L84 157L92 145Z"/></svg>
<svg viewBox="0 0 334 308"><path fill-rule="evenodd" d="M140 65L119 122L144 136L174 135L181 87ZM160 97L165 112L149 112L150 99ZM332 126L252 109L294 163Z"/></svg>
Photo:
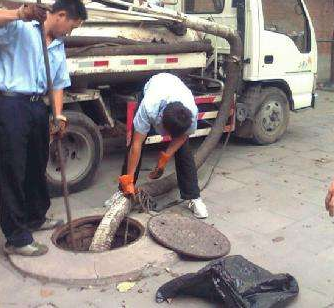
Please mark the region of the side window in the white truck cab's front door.
<svg viewBox="0 0 334 308"><path fill-rule="evenodd" d="M300 0L262 0L264 29L287 35L301 53L311 50L310 29Z"/></svg>

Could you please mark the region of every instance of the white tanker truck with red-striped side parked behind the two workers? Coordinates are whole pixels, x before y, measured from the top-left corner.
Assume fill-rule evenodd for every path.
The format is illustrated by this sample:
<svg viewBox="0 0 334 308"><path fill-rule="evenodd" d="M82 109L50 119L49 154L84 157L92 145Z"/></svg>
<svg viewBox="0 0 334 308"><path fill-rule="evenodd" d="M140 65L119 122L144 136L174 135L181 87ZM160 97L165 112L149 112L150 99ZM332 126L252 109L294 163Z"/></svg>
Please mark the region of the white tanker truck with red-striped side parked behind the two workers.
<svg viewBox="0 0 334 308"><path fill-rule="evenodd" d="M166 9L240 33L242 74L225 131L270 144L286 131L290 110L314 106L317 44L303 0L168 1ZM89 20L66 39L72 87L66 91L70 125L63 144L71 191L93 179L103 155L102 136L130 138L142 87L153 74L169 71L185 80L200 111L192 137L207 135L221 102L229 54L224 39L134 12L117 0L87 7ZM147 143L167 140L151 132ZM60 191L53 144L47 176L52 190Z"/></svg>

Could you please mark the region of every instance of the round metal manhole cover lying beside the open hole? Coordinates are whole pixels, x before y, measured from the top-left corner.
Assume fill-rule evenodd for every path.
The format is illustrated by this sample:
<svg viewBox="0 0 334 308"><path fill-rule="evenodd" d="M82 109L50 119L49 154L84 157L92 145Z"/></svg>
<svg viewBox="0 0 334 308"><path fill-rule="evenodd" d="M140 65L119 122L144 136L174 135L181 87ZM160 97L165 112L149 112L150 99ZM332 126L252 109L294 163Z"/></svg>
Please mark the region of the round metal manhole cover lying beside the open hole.
<svg viewBox="0 0 334 308"><path fill-rule="evenodd" d="M230 252L229 240L203 221L162 214L148 222L152 237L163 246L197 259L216 259Z"/></svg>

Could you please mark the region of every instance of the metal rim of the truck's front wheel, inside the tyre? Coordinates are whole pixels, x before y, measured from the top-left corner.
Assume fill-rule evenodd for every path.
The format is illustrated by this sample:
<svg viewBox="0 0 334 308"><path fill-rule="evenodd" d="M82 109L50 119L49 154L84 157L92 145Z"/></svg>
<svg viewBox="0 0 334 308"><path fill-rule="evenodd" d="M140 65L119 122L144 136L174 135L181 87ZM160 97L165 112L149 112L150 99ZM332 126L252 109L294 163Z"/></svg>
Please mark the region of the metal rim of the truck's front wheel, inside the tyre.
<svg viewBox="0 0 334 308"><path fill-rule="evenodd" d="M283 119L284 112L280 102L271 100L261 108L261 127L266 133L275 134Z"/></svg>

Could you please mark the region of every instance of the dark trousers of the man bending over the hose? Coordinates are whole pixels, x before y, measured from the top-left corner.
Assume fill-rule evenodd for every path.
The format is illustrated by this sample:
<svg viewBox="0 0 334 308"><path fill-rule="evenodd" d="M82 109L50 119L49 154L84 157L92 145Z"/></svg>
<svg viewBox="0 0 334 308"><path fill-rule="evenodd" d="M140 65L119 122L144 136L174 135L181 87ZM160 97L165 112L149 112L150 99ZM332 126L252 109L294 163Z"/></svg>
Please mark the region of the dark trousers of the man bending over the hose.
<svg viewBox="0 0 334 308"><path fill-rule="evenodd" d="M127 154L125 155L122 167L122 175L127 174L128 154L130 151L130 147L128 147ZM191 200L199 198L200 190L198 187L197 169L194 161L194 155L192 154L188 139L182 145L182 147L175 153L174 158L175 158L176 177L180 189L181 198L183 200ZM135 172L135 182L138 179L141 167L141 160L142 159L140 157Z"/></svg>

